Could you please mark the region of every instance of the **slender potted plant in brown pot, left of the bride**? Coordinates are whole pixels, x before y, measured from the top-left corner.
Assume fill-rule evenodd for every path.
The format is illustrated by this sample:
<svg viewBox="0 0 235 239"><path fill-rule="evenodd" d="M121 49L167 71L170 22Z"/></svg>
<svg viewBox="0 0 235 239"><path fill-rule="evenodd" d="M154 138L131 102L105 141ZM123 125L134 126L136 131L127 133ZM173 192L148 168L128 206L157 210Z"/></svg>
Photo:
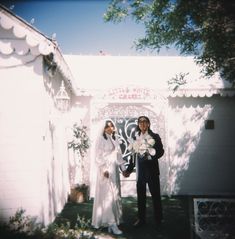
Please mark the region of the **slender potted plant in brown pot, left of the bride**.
<svg viewBox="0 0 235 239"><path fill-rule="evenodd" d="M68 143L68 148L72 148L76 153L79 163L79 173L81 175L77 184L72 185L70 200L74 202L84 202L88 199L88 185L84 179L84 158L90 147L90 139L85 125L73 125L73 139Z"/></svg>

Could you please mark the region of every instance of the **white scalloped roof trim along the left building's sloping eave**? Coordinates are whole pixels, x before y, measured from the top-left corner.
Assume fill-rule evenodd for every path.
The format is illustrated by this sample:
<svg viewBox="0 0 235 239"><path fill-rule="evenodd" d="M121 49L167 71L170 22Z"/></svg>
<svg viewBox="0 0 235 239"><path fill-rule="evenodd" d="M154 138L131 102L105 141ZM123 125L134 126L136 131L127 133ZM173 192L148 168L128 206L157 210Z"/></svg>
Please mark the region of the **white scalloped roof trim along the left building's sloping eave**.
<svg viewBox="0 0 235 239"><path fill-rule="evenodd" d="M77 86L71 71L65 62L56 41L53 41L31 26L22 18L16 16L6 7L0 4L0 27L12 30L16 39L0 39L0 53L10 55L13 52L18 55L26 55L29 51L32 55L54 55L54 60L59 71L66 79L72 92L77 94ZM19 43L19 40L21 41ZM17 42L18 41L18 42ZM17 42L17 44L16 44ZM17 48L18 46L18 48Z"/></svg>

